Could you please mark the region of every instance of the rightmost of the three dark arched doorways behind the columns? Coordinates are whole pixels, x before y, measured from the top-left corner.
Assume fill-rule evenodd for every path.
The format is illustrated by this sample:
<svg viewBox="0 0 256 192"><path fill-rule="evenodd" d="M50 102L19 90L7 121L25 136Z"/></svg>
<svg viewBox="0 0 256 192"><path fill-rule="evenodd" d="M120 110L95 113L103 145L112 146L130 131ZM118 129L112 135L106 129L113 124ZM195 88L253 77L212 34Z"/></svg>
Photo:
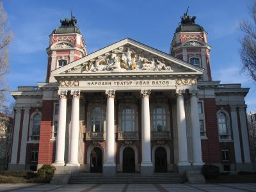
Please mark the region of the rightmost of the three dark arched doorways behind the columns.
<svg viewBox="0 0 256 192"><path fill-rule="evenodd" d="M163 147L155 151L155 172L167 172L167 154Z"/></svg>

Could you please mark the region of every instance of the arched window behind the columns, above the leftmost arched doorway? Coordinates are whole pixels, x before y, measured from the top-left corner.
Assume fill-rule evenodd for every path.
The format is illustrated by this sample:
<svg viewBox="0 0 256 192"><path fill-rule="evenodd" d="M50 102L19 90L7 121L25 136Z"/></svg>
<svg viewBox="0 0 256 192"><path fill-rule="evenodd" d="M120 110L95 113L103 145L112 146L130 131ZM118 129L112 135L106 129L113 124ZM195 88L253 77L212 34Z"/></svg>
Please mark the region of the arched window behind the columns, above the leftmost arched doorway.
<svg viewBox="0 0 256 192"><path fill-rule="evenodd" d="M99 106L92 108L91 111L91 131L102 132L104 128L104 111Z"/></svg>

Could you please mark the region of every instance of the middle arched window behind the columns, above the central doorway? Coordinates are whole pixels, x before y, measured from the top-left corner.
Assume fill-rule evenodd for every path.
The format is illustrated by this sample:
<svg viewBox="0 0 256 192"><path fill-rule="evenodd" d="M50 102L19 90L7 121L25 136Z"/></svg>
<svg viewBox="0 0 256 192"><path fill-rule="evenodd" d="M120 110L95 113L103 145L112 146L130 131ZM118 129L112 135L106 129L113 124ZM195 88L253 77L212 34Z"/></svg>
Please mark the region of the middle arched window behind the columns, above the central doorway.
<svg viewBox="0 0 256 192"><path fill-rule="evenodd" d="M135 111L132 108L124 108L122 110L122 127L120 131L135 131Z"/></svg>

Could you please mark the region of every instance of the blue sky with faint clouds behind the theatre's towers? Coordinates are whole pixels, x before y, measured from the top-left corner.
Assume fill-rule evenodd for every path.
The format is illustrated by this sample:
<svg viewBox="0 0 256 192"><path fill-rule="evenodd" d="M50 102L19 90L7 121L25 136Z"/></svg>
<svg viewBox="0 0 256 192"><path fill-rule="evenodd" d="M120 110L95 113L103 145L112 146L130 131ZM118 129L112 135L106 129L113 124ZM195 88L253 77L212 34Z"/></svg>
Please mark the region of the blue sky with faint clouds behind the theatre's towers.
<svg viewBox="0 0 256 192"><path fill-rule="evenodd" d="M242 83L251 90L246 96L247 111L256 110L256 83L240 73L239 22L250 19L251 0L230 1L33 1L3 0L14 38L10 46L10 90L19 85L44 82L49 35L60 26L60 19L77 18L88 53L129 37L169 52L180 16L189 6L189 15L208 33L214 80ZM10 101L13 101L10 97Z"/></svg>

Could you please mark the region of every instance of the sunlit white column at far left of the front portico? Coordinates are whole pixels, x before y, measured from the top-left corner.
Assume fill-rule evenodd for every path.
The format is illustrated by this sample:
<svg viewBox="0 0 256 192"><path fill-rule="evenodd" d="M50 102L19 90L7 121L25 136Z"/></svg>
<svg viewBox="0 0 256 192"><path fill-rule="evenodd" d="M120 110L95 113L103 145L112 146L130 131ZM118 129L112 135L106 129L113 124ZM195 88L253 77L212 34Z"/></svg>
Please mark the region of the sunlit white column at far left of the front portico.
<svg viewBox="0 0 256 192"><path fill-rule="evenodd" d="M67 113L67 91L58 91L59 100L59 115L58 115L58 130L56 139L56 156L54 165L63 166L65 154L65 135L66 135L66 113Z"/></svg>

